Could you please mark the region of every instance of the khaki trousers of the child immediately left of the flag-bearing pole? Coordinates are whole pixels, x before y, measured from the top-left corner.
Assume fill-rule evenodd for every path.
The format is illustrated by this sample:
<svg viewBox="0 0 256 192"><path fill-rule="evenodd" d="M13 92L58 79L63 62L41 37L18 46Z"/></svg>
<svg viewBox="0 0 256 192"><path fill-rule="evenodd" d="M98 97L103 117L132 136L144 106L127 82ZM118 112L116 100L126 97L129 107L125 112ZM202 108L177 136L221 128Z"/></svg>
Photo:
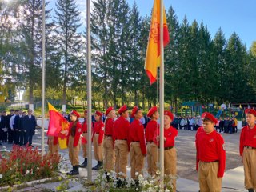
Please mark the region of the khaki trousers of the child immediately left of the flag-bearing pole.
<svg viewBox="0 0 256 192"><path fill-rule="evenodd" d="M147 142L146 144L147 150L147 172L153 176L156 174L158 167L158 146L154 144L154 142Z"/></svg>

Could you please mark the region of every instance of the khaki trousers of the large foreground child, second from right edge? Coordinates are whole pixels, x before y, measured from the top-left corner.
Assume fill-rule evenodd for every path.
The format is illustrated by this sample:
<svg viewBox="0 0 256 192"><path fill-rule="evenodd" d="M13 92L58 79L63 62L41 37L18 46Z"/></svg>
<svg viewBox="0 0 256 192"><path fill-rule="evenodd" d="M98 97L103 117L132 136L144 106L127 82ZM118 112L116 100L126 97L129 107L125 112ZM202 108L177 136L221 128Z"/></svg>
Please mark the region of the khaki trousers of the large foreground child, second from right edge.
<svg viewBox="0 0 256 192"><path fill-rule="evenodd" d="M218 162L199 162L198 180L200 192L222 191L222 178L218 178Z"/></svg>

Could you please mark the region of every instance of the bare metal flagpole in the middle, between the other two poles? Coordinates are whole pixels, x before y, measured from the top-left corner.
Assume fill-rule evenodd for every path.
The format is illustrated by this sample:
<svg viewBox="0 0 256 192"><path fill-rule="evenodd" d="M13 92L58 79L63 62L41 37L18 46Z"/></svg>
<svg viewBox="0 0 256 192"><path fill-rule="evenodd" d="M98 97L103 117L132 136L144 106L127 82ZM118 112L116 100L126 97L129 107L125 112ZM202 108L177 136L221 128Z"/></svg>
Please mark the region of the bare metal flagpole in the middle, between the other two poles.
<svg viewBox="0 0 256 192"><path fill-rule="evenodd" d="M92 181L92 175L91 175L91 167L92 167L92 161L91 161L91 48L90 48L90 0L87 0L87 127L88 127L88 137L87 139L87 151L88 157L87 157L87 177L88 182Z"/></svg>

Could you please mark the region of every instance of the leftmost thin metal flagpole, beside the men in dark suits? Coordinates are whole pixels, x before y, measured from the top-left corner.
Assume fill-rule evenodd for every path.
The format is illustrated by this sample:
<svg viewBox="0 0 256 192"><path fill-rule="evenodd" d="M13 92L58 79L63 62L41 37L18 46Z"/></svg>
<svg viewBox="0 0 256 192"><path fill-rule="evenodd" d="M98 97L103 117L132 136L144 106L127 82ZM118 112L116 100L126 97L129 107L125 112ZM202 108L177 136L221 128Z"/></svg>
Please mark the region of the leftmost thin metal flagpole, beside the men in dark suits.
<svg viewBox="0 0 256 192"><path fill-rule="evenodd" d="M45 154L46 2L42 0L42 159Z"/></svg>

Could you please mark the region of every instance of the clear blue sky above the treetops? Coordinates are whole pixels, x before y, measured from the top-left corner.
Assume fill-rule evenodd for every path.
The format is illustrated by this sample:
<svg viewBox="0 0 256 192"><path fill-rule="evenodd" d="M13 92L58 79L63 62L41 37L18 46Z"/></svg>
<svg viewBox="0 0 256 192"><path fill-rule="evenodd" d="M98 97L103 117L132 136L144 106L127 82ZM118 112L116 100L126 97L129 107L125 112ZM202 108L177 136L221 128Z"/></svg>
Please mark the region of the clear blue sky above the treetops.
<svg viewBox="0 0 256 192"><path fill-rule="evenodd" d="M75 0L81 11L82 21L86 18L86 0ZM154 0L126 0L130 6L136 2L142 16L150 16ZM54 8L56 0L50 0L49 7ZM242 43L249 48L256 41L256 1L255 0L164 0L166 9L174 8L178 21L182 22L187 17L192 23L194 19L208 27L211 37L221 27L226 38L236 32Z"/></svg>

